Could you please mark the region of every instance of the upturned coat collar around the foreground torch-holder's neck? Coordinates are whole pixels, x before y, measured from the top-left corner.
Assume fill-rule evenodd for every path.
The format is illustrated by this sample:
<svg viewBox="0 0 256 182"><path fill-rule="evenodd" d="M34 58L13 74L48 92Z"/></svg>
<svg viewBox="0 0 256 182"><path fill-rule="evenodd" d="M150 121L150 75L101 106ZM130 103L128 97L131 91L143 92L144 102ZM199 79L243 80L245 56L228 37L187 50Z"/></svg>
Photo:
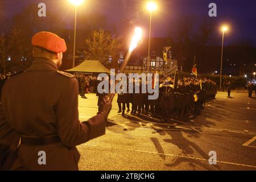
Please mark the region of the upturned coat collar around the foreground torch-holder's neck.
<svg viewBox="0 0 256 182"><path fill-rule="evenodd" d="M57 71L57 65L44 57L36 57L35 61L27 71Z"/></svg>

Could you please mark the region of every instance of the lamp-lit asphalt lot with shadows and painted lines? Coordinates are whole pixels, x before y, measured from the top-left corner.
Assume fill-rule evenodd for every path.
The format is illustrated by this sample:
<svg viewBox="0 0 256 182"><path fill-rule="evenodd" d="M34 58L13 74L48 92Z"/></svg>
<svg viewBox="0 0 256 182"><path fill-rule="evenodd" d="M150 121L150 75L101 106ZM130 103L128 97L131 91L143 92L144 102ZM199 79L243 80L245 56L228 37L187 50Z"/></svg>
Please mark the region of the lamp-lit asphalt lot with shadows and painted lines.
<svg viewBox="0 0 256 182"><path fill-rule="evenodd" d="M81 121L97 113L97 97L79 98ZM200 113L162 123L118 114L116 98L106 135L81 144L80 170L256 170L256 98L219 92ZM216 164L212 161L216 152Z"/></svg>

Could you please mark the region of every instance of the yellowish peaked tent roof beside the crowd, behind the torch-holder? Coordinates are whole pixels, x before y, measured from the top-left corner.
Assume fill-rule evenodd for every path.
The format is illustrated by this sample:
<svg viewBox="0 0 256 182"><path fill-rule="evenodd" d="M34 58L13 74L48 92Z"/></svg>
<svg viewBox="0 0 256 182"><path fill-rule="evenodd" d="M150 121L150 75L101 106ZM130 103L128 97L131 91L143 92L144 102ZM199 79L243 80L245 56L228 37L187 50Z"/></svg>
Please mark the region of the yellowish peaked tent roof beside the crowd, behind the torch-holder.
<svg viewBox="0 0 256 182"><path fill-rule="evenodd" d="M67 72L84 72L84 73L110 73L110 70L100 61L97 60L85 60L75 68L66 70Z"/></svg>

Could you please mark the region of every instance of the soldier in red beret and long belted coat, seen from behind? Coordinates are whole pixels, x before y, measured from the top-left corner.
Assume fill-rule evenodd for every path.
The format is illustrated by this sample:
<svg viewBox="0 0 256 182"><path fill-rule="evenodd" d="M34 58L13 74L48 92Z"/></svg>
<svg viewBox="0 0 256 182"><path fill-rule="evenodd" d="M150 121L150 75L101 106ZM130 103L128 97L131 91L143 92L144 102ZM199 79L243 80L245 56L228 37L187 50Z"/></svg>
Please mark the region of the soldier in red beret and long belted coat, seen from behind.
<svg viewBox="0 0 256 182"><path fill-rule="evenodd" d="M20 136L18 157L11 169L78 170L76 146L105 134L111 101L104 99L97 115L80 122L78 82L58 70L67 50L65 40L39 32L32 38L32 46L34 63L11 76L2 89L5 119L1 121L6 120Z"/></svg>

